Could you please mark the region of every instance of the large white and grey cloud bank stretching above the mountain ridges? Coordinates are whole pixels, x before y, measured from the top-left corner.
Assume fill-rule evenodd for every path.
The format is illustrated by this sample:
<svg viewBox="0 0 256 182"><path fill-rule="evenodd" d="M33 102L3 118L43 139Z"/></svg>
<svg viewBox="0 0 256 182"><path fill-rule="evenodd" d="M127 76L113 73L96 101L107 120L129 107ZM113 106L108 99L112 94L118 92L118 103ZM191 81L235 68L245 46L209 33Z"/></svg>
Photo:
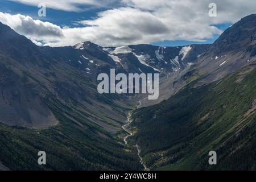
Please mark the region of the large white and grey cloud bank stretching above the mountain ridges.
<svg viewBox="0 0 256 182"><path fill-rule="evenodd" d="M61 5L66 6L67 2L71 1L61 1ZM90 1L76 0L76 2ZM94 19L76 22L83 27L75 28L60 28L23 15L5 14L7 17L5 21L20 34L48 46L71 46L84 41L91 41L101 46L121 46L163 40L204 42L216 34L221 34L222 31L216 27L216 24L234 23L243 16L255 13L256 1L216 0L217 17L210 17L208 5L211 2L210 0L123 0L123 7L102 11ZM0 14L0 20L3 16ZM38 26L39 24L45 28L40 30L42 27ZM26 27L23 27L24 25Z"/></svg>

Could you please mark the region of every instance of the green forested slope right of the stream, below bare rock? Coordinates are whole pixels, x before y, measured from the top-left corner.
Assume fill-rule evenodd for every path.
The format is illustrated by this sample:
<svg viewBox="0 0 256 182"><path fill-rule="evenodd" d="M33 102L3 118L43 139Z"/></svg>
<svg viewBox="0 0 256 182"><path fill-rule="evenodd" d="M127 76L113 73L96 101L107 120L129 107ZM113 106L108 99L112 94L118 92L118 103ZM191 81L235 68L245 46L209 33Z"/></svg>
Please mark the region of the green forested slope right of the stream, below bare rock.
<svg viewBox="0 0 256 182"><path fill-rule="evenodd" d="M246 72L243 68L241 72ZM192 81L159 105L135 111L133 138L151 169L255 169L256 69L200 88ZM148 135L150 134L150 135ZM217 152L209 166L208 152Z"/></svg>

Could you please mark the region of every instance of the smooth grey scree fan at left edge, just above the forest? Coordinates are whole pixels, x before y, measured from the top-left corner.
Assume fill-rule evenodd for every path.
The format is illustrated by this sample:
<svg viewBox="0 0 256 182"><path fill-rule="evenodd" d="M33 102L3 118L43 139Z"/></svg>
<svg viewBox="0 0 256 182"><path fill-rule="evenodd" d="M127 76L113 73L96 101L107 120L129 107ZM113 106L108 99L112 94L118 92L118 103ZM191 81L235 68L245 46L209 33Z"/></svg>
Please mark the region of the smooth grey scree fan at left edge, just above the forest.
<svg viewBox="0 0 256 182"><path fill-rule="evenodd" d="M47 127L57 119L26 78L0 64L0 121L11 126Z"/></svg>

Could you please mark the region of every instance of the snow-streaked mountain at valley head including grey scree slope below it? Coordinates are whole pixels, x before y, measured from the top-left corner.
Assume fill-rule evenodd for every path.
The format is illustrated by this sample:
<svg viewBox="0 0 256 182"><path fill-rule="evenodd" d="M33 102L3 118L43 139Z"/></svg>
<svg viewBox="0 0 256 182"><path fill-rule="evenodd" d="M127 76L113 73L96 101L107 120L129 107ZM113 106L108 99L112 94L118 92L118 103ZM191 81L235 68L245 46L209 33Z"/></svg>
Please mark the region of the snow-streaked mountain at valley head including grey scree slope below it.
<svg viewBox="0 0 256 182"><path fill-rule="evenodd" d="M144 100L144 94L130 98L131 102L141 100L143 106L154 105L170 98L184 85L176 81L197 62L210 44L197 44L179 47L159 47L146 44L121 47L105 47L119 67L127 73L160 73L158 100ZM175 85L176 83L176 85Z"/></svg>

